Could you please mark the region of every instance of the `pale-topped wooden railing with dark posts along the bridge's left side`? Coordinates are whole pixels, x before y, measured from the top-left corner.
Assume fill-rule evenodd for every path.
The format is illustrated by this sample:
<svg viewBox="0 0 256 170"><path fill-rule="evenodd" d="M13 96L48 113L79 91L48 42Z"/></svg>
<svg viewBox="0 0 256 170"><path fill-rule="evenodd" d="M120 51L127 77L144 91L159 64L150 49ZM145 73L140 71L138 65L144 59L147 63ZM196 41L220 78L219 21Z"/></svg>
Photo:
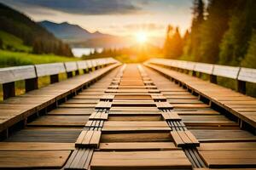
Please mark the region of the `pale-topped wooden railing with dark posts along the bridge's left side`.
<svg viewBox="0 0 256 170"><path fill-rule="evenodd" d="M3 99L15 96L16 81L24 80L25 90L29 92L38 89L38 77L49 76L50 83L55 83L59 82L59 74L61 73L67 73L69 78L73 77L73 71L75 75L79 75L79 70L86 73L117 62L113 58L105 58L0 68L0 84L3 85Z"/></svg>

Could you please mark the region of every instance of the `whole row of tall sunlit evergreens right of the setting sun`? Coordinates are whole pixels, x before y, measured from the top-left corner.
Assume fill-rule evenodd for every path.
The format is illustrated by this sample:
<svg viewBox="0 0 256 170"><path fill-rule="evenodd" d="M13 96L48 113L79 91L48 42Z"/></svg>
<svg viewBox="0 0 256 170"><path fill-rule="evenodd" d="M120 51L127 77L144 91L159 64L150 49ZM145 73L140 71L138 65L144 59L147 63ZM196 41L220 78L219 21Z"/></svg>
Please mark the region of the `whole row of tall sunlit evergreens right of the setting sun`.
<svg viewBox="0 0 256 170"><path fill-rule="evenodd" d="M256 1L194 0L189 31L168 26L166 58L256 68Z"/></svg>

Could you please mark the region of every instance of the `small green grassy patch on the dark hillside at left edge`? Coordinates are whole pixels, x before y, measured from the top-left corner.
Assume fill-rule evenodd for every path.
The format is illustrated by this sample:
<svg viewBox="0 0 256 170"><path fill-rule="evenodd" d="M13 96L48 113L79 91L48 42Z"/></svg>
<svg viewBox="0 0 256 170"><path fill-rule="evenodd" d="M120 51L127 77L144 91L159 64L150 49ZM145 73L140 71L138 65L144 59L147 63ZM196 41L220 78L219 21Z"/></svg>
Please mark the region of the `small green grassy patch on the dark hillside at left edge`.
<svg viewBox="0 0 256 170"><path fill-rule="evenodd" d="M32 47L23 44L19 37L15 37L5 31L0 31L0 39L3 41L3 49L19 52L32 52Z"/></svg>

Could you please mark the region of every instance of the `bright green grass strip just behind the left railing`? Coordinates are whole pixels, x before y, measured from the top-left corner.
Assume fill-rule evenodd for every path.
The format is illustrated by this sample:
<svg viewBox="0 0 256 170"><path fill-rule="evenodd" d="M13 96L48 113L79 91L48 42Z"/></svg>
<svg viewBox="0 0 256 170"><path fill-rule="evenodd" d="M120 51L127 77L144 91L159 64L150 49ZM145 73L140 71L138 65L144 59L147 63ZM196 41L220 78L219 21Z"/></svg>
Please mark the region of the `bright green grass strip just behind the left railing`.
<svg viewBox="0 0 256 170"><path fill-rule="evenodd" d="M21 52L11 52L0 50L0 68L18 65L34 65L43 63L55 63L79 60L78 58L69 58L57 56L54 54L28 54Z"/></svg>

